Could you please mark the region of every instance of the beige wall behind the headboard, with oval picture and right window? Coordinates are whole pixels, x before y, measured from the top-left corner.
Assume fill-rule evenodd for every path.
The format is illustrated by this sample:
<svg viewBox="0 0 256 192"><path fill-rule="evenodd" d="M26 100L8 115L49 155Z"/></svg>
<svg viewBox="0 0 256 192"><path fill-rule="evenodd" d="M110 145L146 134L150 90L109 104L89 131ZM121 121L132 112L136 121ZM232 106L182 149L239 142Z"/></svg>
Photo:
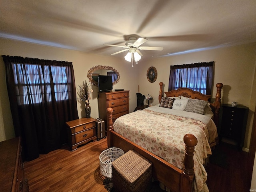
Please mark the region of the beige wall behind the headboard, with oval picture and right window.
<svg viewBox="0 0 256 192"><path fill-rule="evenodd" d="M222 103L231 104L232 101L236 101L240 105L249 107L244 141L244 147L248 149L256 104L256 83L254 83L256 80L256 43L143 61L139 68L140 92L151 94L154 98L153 104L157 104L159 82L163 82L164 91L168 91L170 65L210 61L215 61L214 85L219 82L224 85ZM146 72L150 66L154 66L158 72L158 77L154 83L148 82L146 78ZM214 88L212 95L215 97L216 88Z"/></svg>

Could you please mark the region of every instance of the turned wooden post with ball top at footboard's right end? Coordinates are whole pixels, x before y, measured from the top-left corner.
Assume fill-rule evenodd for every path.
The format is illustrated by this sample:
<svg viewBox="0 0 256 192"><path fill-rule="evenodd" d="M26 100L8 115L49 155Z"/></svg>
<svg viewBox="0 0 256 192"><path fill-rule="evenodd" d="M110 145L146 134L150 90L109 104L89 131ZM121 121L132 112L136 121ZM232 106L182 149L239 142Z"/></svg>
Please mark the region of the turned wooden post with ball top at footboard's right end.
<svg viewBox="0 0 256 192"><path fill-rule="evenodd" d="M186 134L183 137L183 141L185 143L185 157L183 162L183 172L186 175L194 175L194 149L197 144L197 138L192 134Z"/></svg>

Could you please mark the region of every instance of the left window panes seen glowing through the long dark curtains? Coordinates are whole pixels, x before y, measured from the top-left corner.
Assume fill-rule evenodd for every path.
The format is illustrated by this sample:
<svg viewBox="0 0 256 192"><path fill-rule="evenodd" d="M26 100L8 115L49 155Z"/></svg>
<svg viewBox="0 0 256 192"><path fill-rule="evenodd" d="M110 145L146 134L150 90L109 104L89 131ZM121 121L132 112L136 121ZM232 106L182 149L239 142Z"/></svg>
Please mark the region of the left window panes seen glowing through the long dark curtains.
<svg viewBox="0 0 256 192"><path fill-rule="evenodd" d="M66 66L12 63L12 67L19 105L51 102L52 97L56 101L68 99L68 68ZM18 89L21 90L18 91Z"/></svg>

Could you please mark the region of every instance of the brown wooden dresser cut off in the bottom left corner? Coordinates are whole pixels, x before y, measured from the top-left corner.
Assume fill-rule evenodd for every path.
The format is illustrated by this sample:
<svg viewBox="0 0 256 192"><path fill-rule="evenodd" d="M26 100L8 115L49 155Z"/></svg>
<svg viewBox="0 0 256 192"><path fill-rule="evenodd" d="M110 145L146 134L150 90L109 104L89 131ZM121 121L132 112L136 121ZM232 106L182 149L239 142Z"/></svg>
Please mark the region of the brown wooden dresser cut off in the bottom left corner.
<svg viewBox="0 0 256 192"><path fill-rule="evenodd" d="M0 142L0 191L28 192L20 137Z"/></svg>

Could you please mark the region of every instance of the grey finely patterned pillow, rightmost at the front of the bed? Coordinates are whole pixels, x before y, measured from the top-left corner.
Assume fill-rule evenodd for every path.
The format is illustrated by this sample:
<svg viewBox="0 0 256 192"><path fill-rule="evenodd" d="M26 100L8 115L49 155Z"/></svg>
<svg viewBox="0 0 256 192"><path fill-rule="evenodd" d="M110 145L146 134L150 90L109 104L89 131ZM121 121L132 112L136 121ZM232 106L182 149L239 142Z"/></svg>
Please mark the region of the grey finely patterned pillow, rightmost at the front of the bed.
<svg viewBox="0 0 256 192"><path fill-rule="evenodd" d="M192 112L192 113L198 113L198 114L204 114L204 108L207 105L207 101L199 100L199 99L188 99L188 104L184 111Z"/></svg>

